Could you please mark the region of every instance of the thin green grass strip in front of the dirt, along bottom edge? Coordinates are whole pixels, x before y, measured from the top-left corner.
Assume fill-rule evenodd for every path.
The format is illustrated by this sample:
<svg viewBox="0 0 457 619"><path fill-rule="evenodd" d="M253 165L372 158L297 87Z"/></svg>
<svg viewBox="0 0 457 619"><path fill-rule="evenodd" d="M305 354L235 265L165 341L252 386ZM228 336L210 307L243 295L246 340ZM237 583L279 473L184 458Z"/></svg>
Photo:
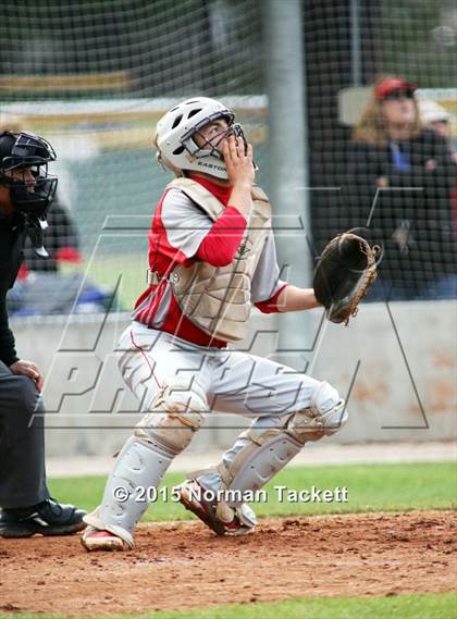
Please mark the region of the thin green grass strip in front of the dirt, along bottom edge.
<svg viewBox="0 0 457 619"><path fill-rule="evenodd" d="M42 619L44 615L14 614L15 619ZM55 619L63 615L52 616ZM87 617L87 616L85 616ZM454 593L392 597L308 597L271 604L237 604L205 610L116 615L111 619L456 619Z"/></svg>

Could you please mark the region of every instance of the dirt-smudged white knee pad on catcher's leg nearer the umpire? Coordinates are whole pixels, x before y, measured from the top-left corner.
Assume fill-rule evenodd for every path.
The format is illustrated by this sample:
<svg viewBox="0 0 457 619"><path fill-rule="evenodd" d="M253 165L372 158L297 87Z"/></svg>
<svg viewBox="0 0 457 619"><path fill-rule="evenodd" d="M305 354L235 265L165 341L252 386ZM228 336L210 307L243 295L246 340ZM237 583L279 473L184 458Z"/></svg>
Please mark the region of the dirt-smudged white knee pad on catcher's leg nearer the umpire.
<svg viewBox="0 0 457 619"><path fill-rule="evenodd" d="M189 386L187 380L174 377L164 383L152 408L137 424L135 436L173 457L203 424L208 401L195 381Z"/></svg>

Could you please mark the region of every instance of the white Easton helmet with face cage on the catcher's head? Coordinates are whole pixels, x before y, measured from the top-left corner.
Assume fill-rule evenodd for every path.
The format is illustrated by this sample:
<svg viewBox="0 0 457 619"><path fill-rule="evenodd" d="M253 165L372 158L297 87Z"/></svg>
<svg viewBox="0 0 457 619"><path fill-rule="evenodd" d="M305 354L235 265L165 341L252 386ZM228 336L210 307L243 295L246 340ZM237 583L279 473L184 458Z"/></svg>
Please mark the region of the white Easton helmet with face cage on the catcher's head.
<svg viewBox="0 0 457 619"><path fill-rule="evenodd" d="M217 145L207 143L205 147L199 147L194 140L200 128L218 119L225 119L228 125L227 131L221 134L220 141L233 133L246 144L243 128L234 124L235 114L228 108L215 99L194 97L172 108L158 122L158 160L175 174L193 170L227 178L224 159Z"/></svg>

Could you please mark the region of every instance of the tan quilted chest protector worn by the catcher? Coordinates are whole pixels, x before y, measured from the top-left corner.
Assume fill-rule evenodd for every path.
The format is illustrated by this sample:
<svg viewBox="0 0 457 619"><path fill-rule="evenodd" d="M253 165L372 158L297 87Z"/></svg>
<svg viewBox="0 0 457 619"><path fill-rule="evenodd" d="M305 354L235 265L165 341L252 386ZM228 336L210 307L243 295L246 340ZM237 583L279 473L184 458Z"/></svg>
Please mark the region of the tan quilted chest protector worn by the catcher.
<svg viewBox="0 0 457 619"><path fill-rule="evenodd" d="M181 189L213 221L224 211L222 202L190 178L176 178L168 187ZM208 335L225 342L245 337L252 305L251 280L270 228L269 199L262 189L254 187L250 221L233 262L212 267L197 261L171 273L170 283L183 313Z"/></svg>

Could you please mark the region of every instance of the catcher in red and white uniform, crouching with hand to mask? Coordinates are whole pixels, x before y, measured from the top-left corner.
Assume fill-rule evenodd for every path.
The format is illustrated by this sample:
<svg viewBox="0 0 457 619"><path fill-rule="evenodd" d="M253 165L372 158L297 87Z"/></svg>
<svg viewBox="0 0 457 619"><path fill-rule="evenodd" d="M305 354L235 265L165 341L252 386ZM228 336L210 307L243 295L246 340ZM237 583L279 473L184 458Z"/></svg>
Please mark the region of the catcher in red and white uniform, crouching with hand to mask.
<svg viewBox="0 0 457 619"><path fill-rule="evenodd" d="M196 97L158 123L157 157L175 179L149 232L149 286L120 343L123 379L146 414L118 456L100 506L85 517L88 550L133 547L148 507L143 488L159 486L212 410L252 420L220 462L178 486L184 506L219 535L256 527L252 510L221 491L243 497L261 488L307 441L346 422L345 403L328 382L230 348L244 338L252 305L267 313L319 306L312 288L279 280L271 207L234 121L219 101ZM205 490L218 498L207 500Z"/></svg>

